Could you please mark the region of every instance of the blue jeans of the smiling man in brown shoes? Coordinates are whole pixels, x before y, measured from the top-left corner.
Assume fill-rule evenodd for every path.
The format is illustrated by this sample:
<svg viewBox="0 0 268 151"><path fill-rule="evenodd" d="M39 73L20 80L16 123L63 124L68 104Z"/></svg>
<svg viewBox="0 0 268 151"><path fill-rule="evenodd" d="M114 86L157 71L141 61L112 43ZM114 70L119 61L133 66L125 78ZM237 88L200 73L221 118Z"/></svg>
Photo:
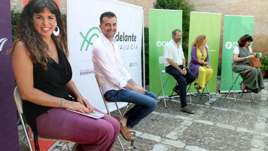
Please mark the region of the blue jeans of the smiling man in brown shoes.
<svg viewBox="0 0 268 151"><path fill-rule="evenodd" d="M157 107L156 95L149 91L141 94L129 89L108 90L104 93L104 98L111 102L119 101L136 104L124 116L128 119L127 126L129 128L133 128Z"/></svg>

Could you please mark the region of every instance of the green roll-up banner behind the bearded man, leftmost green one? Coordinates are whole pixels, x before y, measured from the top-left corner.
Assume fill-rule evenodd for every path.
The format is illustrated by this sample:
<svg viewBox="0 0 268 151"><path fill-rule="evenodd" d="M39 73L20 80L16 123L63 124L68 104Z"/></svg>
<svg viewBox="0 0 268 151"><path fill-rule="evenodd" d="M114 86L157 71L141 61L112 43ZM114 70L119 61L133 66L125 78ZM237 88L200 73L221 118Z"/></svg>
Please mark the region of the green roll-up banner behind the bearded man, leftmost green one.
<svg viewBox="0 0 268 151"><path fill-rule="evenodd" d="M149 80L150 91L156 95L161 89L158 57L164 56L164 46L172 39L174 29L182 30L182 10L149 9ZM163 64L161 70L164 68ZM168 74L162 75L164 82ZM169 77L164 87L165 95L170 95L174 86L175 79ZM163 96L162 92L160 96Z"/></svg>

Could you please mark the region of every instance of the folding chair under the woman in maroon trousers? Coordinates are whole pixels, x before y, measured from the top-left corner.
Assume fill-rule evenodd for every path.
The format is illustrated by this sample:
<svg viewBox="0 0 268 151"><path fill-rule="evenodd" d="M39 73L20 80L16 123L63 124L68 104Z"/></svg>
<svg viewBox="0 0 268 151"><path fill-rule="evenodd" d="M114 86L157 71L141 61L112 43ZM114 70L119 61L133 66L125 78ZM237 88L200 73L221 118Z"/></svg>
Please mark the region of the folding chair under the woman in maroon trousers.
<svg viewBox="0 0 268 151"><path fill-rule="evenodd" d="M27 129L26 129L23 117L22 117L22 114L23 114L22 99L20 97L18 86L16 86L16 88L14 89L14 100L16 102L17 110L18 110L18 113L19 113L19 119L20 119L20 122L22 124L23 131L24 131L24 134L25 134L25 137L26 137L27 146L29 147L30 151L33 151L33 148L32 148L31 142L30 142L30 138L29 138L29 135L28 135L28 132L27 132ZM31 134L31 136L33 137L33 132ZM31 140L33 140L33 139L31 139ZM67 141L67 140L48 139L48 138L42 138L40 136L38 136L38 140L56 141L57 143L55 143L55 144L59 144L60 142L64 142L64 144L62 145L60 151L63 151L66 146L68 147L69 151L72 151L71 147L69 146L69 143L75 144L75 142L71 142L71 141ZM52 147L55 148L56 146L52 146Z"/></svg>

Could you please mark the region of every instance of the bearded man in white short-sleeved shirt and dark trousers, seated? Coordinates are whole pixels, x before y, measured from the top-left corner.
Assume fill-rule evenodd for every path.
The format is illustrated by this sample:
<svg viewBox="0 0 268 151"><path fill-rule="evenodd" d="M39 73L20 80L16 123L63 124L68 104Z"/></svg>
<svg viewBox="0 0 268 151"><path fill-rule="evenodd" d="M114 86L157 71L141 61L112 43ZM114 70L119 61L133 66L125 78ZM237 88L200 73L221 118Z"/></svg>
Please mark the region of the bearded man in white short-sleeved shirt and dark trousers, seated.
<svg viewBox="0 0 268 151"><path fill-rule="evenodd" d="M172 31L172 39L164 48L164 61L166 72L171 74L178 82L173 90L180 95L181 110L186 113L195 113L186 103L186 86L196 80L195 75L186 67L182 45L182 31L175 29Z"/></svg>

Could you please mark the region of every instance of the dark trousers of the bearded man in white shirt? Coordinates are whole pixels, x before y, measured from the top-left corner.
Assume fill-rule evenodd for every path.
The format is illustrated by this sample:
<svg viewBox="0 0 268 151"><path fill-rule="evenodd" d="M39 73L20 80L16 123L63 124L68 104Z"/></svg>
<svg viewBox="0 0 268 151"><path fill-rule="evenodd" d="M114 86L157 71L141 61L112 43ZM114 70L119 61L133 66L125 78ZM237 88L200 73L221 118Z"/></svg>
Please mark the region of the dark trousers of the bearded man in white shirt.
<svg viewBox="0 0 268 151"><path fill-rule="evenodd" d="M178 66L183 69L183 66ZM182 107L187 106L186 103L186 86L196 80L196 76L189 70L186 69L187 73L182 75L180 71L172 67L171 65L166 67L166 73L172 75L178 82L175 86L176 90L180 90L180 98Z"/></svg>

